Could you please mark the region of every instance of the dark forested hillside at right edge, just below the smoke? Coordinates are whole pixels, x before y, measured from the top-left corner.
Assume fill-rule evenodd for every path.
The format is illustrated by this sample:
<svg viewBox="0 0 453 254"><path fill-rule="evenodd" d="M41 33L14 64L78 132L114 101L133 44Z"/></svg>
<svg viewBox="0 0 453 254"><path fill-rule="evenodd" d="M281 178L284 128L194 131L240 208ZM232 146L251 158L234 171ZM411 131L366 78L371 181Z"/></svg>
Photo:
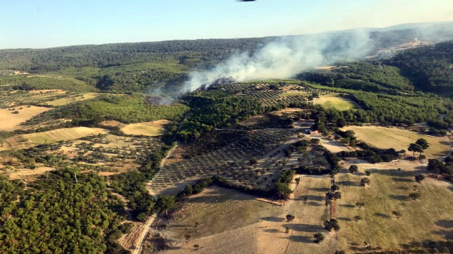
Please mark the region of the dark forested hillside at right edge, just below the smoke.
<svg viewBox="0 0 453 254"><path fill-rule="evenodd" d="M382 61L344 63L345 66L329 71L310 71L299 78L325 86L375 93L417 90L451 96L452 59L453 41L448 41L401 51Z"/></svg>

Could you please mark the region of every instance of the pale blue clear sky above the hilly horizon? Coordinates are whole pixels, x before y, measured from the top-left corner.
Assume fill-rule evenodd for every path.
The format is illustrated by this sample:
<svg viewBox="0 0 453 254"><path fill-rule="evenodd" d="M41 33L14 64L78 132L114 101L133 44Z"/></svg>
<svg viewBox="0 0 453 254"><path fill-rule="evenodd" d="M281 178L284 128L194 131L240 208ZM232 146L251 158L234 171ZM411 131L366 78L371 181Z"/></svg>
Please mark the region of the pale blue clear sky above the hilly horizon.
<svg viewBox="0 0 453 254"><path fill-rule="evenodd" d="M452 20L452 0L1 0L0 49L307 34Z"/></svg>

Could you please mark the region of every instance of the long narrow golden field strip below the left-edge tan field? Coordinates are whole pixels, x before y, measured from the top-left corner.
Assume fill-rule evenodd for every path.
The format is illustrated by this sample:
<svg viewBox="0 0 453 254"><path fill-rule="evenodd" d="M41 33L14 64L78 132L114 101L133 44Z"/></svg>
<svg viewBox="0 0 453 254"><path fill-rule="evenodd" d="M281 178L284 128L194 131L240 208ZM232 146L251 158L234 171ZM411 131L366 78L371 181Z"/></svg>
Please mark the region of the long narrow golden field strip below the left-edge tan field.
<svg viewBox="0 0 453 254"><path fill-rule="evenodd" d="M86 137L100 133L104 134L106 133L106 130L102 128L75 127L24 134L21 135L21 137L26 139L28 143L32 145L39 145L43 143L55 143L62 140L79 139L80 137Z"/></svg>

